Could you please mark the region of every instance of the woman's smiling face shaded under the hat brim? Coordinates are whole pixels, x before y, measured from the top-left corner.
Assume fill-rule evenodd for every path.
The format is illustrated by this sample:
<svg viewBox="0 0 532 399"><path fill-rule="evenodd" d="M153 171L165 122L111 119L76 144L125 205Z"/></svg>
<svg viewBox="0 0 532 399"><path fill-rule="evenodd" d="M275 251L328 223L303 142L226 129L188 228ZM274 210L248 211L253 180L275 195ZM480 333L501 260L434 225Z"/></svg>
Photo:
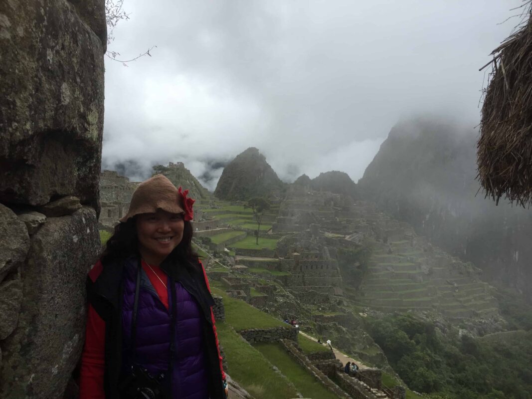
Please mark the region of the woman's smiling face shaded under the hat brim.
<svg viewBox="0 0 532 399"><path fill-rule="evenodd" d="M137 216L139 252L149 264L159 265L183 238L185 221L180 213L157 210Z"/></svg>

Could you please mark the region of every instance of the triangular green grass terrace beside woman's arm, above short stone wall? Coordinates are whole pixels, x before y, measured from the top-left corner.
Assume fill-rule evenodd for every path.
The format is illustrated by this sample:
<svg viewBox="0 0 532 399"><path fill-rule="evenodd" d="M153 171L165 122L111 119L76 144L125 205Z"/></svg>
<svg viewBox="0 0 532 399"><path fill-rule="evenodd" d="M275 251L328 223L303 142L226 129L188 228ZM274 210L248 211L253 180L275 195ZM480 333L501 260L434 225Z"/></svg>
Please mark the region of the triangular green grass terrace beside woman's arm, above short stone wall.
<svg viewBox="0 0 532 399"><path fill-rule="evenodd" d="M286 323L271 317L268 313L261 312L256 307L244 301L231 298L220 289L213 288L213 292L223 297L226 310L226 322L235 330L247 328L287 327Z"/></svg>

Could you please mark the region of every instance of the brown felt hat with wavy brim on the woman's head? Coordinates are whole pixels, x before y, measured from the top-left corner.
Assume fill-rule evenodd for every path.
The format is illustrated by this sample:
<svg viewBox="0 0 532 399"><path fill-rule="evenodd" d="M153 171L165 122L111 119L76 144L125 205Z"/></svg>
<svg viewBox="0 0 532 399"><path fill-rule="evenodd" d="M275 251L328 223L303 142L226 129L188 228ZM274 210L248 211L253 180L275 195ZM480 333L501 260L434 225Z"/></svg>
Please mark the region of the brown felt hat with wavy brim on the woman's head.
<svg viewBox="0 0 532 399"><path fill-rule="evenodd" d="M179 204L180 194L166 176L156 174L138 185L131 197L128 213L120 219L126 222L140 213L155 213L162 209L170 213L185 213Z"/></svg>

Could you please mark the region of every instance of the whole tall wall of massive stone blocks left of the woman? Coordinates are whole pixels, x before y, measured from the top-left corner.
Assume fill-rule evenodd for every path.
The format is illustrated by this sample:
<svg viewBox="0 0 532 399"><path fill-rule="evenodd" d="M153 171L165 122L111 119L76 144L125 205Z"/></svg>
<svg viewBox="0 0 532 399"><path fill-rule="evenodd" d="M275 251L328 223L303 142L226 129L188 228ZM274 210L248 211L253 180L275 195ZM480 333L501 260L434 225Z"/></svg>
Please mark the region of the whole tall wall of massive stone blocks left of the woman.
<svg viewBox="0 0 532 399"><path fill-rule="evenodd" d="M63 398L101 245L103 0L0 2L0 397Z"/></svg>

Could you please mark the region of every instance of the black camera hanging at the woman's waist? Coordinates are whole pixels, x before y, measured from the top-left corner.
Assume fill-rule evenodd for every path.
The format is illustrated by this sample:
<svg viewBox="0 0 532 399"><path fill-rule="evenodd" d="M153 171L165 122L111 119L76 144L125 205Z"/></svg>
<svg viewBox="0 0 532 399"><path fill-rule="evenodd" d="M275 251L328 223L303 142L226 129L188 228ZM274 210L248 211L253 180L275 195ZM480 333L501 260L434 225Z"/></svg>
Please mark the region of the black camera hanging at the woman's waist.
<svg viewBox="0 0 532 399"><path fill-rule="evenodd" d="M120 383L120 397L122 399L167 399L163 389L164 373L153 376L145 368L134 365L131 371Z"/></svg>

